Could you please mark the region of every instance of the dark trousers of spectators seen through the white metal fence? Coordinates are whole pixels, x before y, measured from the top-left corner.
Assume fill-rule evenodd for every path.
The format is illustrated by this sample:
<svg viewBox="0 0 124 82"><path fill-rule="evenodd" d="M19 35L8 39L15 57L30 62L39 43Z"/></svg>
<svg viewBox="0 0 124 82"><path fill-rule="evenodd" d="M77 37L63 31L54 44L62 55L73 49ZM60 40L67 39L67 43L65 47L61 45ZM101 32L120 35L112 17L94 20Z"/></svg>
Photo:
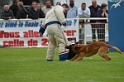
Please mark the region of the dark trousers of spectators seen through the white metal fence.
<svg viewBox="0 0 124 82"><path fill-rule="evenodd" d="M92 28L92 40L96 41L96 30L98 41L105 42L105 24L91 24Z"/></svg>

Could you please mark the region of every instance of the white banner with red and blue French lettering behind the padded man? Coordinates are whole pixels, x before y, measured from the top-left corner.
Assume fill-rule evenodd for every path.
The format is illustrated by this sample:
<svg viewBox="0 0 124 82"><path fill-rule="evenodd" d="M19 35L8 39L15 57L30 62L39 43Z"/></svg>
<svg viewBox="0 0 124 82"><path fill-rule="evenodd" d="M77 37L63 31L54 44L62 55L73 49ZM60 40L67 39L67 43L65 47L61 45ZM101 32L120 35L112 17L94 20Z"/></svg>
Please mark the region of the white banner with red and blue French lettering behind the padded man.
<svg viewBox="0 0 124 82"><path fill-rule="evenodd" d="M47 47L47 34L40 37L38 33L42 20L0 20L0 46ZM63 31L67 38L76 38L78 41L78 20L68 19Z"/></svg>

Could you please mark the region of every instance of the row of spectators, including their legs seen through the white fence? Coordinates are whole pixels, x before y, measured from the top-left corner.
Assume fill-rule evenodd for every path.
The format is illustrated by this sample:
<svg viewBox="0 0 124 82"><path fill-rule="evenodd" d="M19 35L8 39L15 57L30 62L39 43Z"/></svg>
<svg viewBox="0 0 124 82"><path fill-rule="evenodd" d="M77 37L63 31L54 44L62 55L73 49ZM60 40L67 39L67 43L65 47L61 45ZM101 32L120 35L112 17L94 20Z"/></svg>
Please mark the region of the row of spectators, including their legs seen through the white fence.
<svg viewBox="0 0 124 82"><path fill-rule="evenodd" d="M63 7L63 13L65 18L107 18L107 4L97 4L96 0L92 0L92 4L88 7L85 2L82 2L80 8L75 5L76 0L69 0L69 4L61 4L60 2L56 2L56 5L60 5ZM54 6L52 5L50 0L46 0L45 6L33 1L30 8L26 9L24 7L23 2L19 0L13 0L13 4L11 6L4 5L3 10L0 10L0 18L1 19L39 19L45 18L45 15L48 11L50 11ZM1 8L0 8L1 9ZM84 22L84 20L81 20ZM92 39L96 41L96 32L97 37L101 41L105 41L105 22L106 20L90 20L91 30L92 30ZM95 23L95 24L94 24ZM96 24L103 23L103 24ZM83 24L82 24L83 28ZM79 30L80 39L82 40L82 28ZM96 31L97 30L97 31ZM82 41L81 41L82 42Z"/></svg>

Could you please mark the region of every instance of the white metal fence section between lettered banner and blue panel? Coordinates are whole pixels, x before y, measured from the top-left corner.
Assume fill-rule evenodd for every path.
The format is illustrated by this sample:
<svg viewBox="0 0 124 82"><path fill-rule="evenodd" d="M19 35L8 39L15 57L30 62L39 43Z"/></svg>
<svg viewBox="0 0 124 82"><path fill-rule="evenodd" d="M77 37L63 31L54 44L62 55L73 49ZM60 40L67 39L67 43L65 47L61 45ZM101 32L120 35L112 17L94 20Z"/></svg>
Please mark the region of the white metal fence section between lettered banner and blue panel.
<svg viewBox="0 0 124 82"><path fill-rule="evenodd" d="M94 41L108 43L108 18L78 18L79 43L87 44ZM94 20L95 22L91 22Z"/></svg>

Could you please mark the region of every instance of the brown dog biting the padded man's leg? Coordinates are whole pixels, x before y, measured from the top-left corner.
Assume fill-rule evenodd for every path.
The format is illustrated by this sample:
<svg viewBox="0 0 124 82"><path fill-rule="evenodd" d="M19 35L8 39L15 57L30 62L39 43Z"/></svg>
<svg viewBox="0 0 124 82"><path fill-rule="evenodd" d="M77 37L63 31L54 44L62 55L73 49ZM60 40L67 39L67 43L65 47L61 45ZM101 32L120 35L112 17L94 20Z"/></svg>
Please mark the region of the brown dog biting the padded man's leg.
<svg viewBox="0 0 124 82"><path fill-rule="evenodd" d="M111 58L107 56L109 48L113 48L121 54L121 51L117 47L110 46L105 42L93 42L87 45L76 43L72 45L72 50L76 53L76 55L71 60L79 61L82 60L84 57L89 57L95 55L96 53L98 53L106 60L111 60Z"/></svg>

